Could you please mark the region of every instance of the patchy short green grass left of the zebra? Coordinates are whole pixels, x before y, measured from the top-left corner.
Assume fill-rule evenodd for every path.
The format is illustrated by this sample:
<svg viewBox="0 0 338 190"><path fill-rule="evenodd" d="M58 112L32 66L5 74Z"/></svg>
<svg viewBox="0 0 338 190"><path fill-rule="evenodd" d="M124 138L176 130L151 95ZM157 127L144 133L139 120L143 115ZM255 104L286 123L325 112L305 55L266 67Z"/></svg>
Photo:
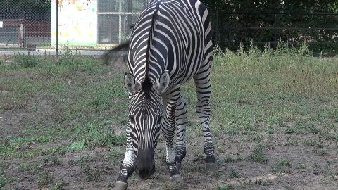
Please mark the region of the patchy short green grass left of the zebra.
<svg viewBox="0 0 338 190"><path fill-rule="evenodd" d="M27 60L24 57L35 60L39 65L34 65L32 68L18 66L24 63L23 60ZM85 63L82 62L84 60ZM52 60L44 57L18 56L14 58L13 64L3 67L3 73L7 76L0 79L1 84L4 84L0 87L1 95L4 95L0 99L0 105L2 105L0 110L1 112L18 113L24 111L27 113L21 122L23 122L27 133L30 134L30 139L20 136L7 137L5 141L8 141L9 147L3 153L13 152L13 149L20 148L25 144L58 140L62 136L67 140L74 141L69 147L71 150L81 149L87 145L107 146L107 144L125 143L124 137L111 135L109 133L111 130L108 129L108 125L111 125L112 122L119 123L120 121L115 120L120 117L96 120L98 115L95 113L111 107L124 106L120 104L114 106L114 103L120 102L109 101L109 99L113 99L113 96L125 95L124 90L121 86L112 85L118 84L117 81L106 81L103 84L94 84L93 88L82 89L84 84L93 81L97 74L106 72L106 69L99 70L98 63L90 58L72 57L71 61L71 64L57 66ZM82 74L80 76L73 75L76 72ZM20 77L23 74L26 76ZM75 80L76 82L74 82ZM101 91L106 92L102 94ZM39 94L48 96L46 97L48 100L37 101L31 105L30 99L44 98L37 97ZM76 101L75 98L87 100ZM44 111L46 118L40 116L40 118L32 120L31 115L39 111ZM53 111L53 115L51 115L51 111ZM105 115L99 115L99 118L103 117ZM62 127L59 123L63 124Z"/></svg>

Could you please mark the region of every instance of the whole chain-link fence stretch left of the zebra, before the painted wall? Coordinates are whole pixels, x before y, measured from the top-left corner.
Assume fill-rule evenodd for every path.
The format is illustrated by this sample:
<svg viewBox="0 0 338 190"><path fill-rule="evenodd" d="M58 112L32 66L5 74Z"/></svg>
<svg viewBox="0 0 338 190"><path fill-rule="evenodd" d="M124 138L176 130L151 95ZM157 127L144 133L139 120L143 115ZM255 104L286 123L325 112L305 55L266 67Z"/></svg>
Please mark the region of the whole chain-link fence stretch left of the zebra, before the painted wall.
<svg viewBox="0 0 338 190"><path fill-rule="evenodd" d="M119 44L130 38L132 26L148 2L1 0L0 49L55 49L56 44L102 49Z"/></svg>

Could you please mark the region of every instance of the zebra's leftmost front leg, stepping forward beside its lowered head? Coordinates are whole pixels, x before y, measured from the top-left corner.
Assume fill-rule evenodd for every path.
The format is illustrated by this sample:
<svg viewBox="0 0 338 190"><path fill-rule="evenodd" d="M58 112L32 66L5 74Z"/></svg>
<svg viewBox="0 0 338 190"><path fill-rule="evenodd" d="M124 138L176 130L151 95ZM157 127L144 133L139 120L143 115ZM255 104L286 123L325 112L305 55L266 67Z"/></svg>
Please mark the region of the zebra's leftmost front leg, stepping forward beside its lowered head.
<svg viewBox="0 0 338 190"><path fill-rule="evenodd" d="M130 128L127 127L127 148L125 151L125 158L121 164L121 172L116 180L114 190L125 190L128 187L128 179L132 172L134 172L134 147L132 145L132 138L130 137Z"/></svg>

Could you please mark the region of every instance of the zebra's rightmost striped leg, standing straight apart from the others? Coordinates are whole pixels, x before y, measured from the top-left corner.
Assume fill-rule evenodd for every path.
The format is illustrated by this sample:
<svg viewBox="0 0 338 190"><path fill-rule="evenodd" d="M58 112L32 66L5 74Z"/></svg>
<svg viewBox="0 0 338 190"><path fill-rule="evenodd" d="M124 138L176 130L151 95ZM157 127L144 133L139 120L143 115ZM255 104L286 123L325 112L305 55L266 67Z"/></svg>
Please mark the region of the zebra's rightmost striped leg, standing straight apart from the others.
<svg viewBox="0 0 338 190"><path fill-rule="evenodd" d="M211 84L209 73L204 75L196 75L194 77L197 94L196 111L201 120L202 132L204 136L204 153L206 154L206 172L208 174L214 174L217 169L215 165L214 151L215 147L211 139L211 133L209 129L210 124L210 105L209 100L211 96Z"/></svg>

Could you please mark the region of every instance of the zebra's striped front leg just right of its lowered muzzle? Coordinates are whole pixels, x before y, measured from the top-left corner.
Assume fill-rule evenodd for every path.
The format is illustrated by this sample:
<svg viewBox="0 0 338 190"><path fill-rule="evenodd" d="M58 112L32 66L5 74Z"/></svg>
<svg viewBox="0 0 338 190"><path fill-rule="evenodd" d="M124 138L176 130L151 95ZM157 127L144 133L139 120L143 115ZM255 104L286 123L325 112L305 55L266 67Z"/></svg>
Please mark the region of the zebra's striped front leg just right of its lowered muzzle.
<svg viewBox="0 0 338 190"><path fill-rule="evenodd" d="M179 93L179 91L178 91ZM178 94L180 96L180 94ZM170 96L170 100L177 100L177 97ZM184 181L180 175L180 172L176 166L175 149L174 149L174 135L176 131L175 121L175 107L177 101L167 102L163 99L163 108L165 108L165 114L162 120L162 134L165 139L166 148L166 163L169 169L169 176L171 182L180 182L184 184Z"/></svg>

